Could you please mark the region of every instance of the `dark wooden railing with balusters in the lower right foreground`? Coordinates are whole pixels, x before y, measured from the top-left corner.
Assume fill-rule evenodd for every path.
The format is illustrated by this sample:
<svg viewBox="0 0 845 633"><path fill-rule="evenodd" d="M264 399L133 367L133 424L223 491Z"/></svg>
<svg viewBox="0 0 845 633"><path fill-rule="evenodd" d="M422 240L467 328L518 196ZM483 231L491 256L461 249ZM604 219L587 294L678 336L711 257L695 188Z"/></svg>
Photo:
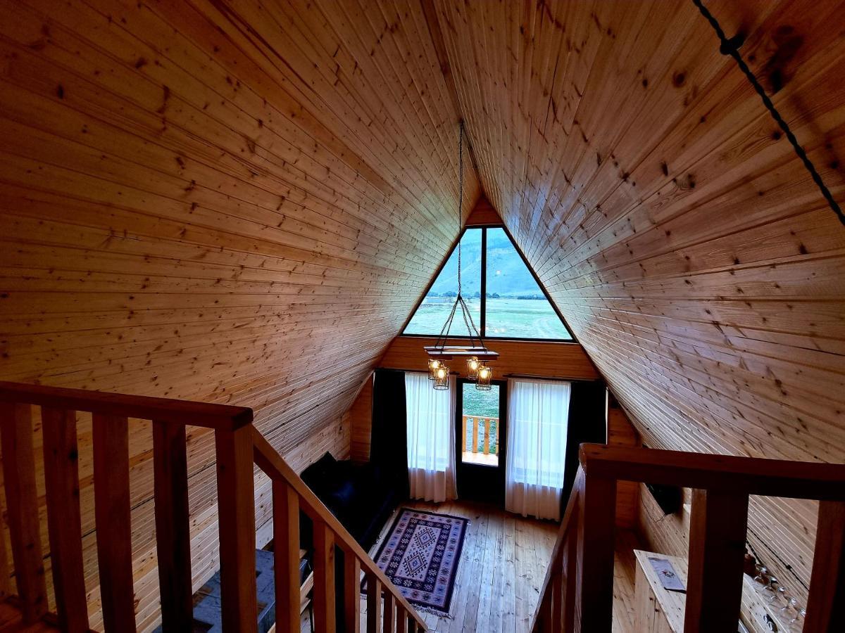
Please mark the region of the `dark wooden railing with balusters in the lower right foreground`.
<svg viewBox="0 0 845 633"><path fill-rule="evenodd" d="M616 482L693 489L684 633L736 630L749 495L819 500L804 631L845 630L845 465L581 445L533 631L609 633Z"/></svg>

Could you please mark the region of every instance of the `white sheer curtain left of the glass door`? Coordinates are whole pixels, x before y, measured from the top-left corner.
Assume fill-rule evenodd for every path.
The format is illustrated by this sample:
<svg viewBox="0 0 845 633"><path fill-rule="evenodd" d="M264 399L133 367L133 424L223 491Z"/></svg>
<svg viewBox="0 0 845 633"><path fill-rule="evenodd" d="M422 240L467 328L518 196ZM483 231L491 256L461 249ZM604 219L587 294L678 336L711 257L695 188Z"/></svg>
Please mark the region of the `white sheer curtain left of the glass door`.
<svg viewBox="0 0 845 633"><path fill-rule="evenodd" d="M427 373L406 371L405 399L411 496L455 499L455 376L450 376L448 390L438 391Z"/></svg>

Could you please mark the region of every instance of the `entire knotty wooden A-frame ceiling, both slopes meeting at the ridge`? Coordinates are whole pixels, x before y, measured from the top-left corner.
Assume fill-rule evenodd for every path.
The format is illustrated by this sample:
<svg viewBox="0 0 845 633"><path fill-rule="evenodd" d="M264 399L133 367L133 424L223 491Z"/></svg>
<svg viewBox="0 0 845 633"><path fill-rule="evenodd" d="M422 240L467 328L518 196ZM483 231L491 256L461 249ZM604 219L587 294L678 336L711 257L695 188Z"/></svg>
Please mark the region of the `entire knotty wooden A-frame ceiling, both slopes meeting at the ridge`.
<svg viewBox="0 0 845 633"><path fill-rule="evenodd" d="M842 3L707 4L842 201ZM0 9L3 378L296 446L455 240L462 117L464 216L483 187L647 442L845 461L845 229L691 0Z"/></svg>

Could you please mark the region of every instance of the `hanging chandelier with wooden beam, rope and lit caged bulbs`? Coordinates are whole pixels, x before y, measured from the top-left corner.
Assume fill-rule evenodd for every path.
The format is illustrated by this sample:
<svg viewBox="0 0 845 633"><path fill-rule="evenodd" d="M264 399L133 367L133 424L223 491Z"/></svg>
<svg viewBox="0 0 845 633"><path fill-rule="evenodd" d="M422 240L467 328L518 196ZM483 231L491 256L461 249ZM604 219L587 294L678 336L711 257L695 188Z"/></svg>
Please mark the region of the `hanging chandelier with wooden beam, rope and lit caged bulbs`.
<svg viewBox="0 0 845 633"><path fill-rule="evenodd" d="M464 122L461 121L461 132L458 138L458 234L461 234L461 209L464 206ZM460 308L460 311L459 311ZM460 314L461 320L469 333L468 345L447 345L452 322L455 314ZM461 295L461 240L458 240L458 296L455 298L455 305L446 317L443 328L437 341L425 348L428 354L428 379L433 381L435 389L449 388L450 367L446 365L447 360L465 360L466 378L475 381L478 391L489 391L490 381L493 379L493 370L488 363L499 358L499 354L491 351L484 344L484 339L475 322L472 320L472 313L466 306L466 301Z"/></svg>

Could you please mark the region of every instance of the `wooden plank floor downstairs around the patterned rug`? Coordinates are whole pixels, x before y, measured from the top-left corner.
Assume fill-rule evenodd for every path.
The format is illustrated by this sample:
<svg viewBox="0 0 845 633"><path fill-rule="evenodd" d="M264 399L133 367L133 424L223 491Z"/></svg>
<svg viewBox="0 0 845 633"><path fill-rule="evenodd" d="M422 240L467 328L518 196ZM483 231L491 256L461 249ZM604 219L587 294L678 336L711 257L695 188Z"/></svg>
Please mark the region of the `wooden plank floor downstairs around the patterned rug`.
<svg viewBox="0 0 845 633"><path fill-rule="evenodd" d="M470 520L461 563L455 579L451 617L421 613L429 630L513 633L529 630L546 575L558 526L549 521L526 519L491 506L465 501L442 504L414 501L403 507L417 508ZM370 555L374 555L394 517L385 523ZM635 633L633 533L619 532L613 583L613 632ZM362 627L366 628L367 603L361 602ZM303 633L308 617L303 618Z"/></svg>

